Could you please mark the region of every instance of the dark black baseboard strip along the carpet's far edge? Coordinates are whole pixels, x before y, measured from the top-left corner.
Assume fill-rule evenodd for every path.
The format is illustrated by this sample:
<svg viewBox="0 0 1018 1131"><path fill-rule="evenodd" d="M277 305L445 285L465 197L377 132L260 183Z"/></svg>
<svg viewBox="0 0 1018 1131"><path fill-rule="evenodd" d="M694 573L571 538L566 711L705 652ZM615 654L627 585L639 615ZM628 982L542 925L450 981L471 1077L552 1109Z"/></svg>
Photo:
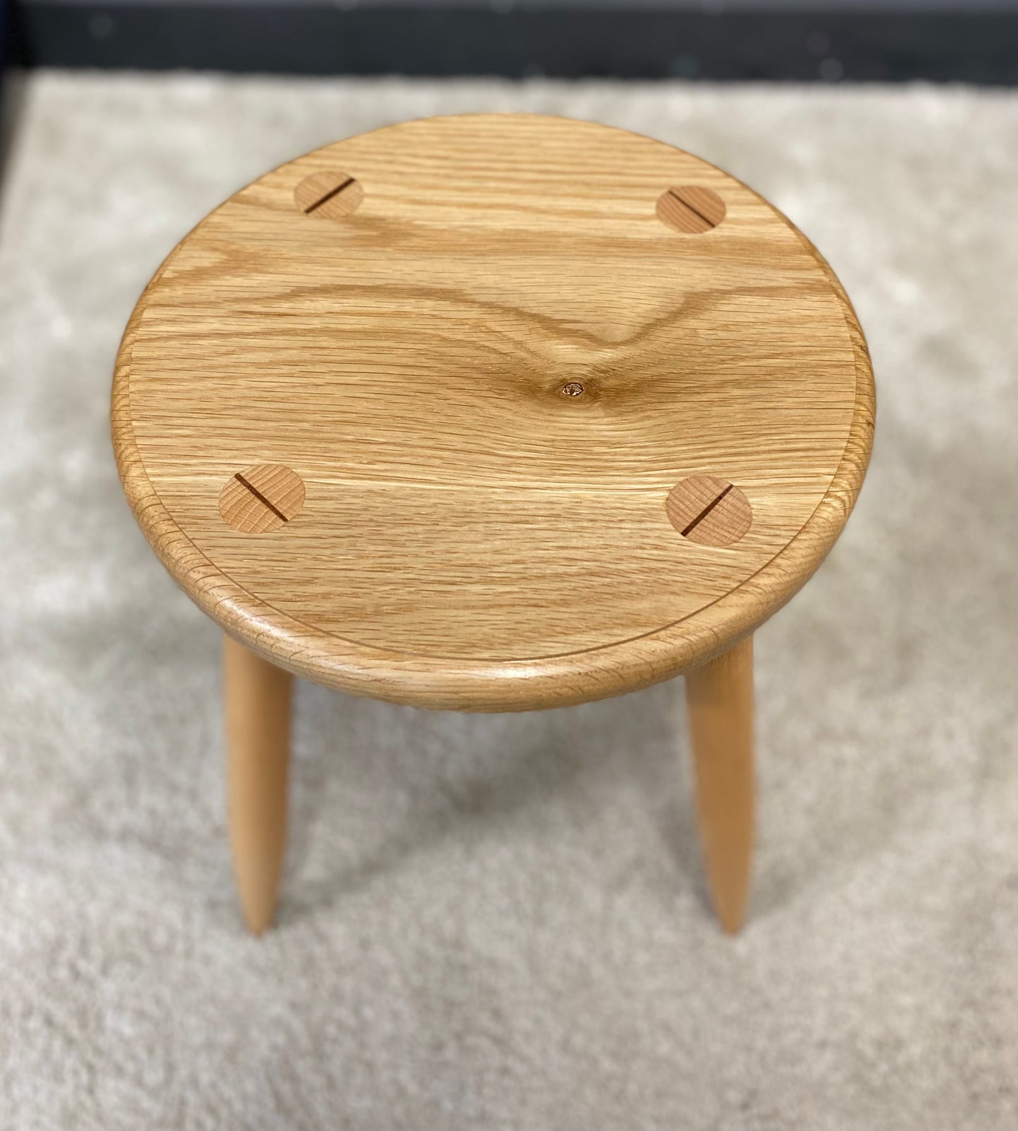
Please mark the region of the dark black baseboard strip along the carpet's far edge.
<svg viewBox="0 0 1018 1131"><path fill-rule="evenodd" d="M1018 83L1018 11L20 0L24 66L292 75Z"/></svg>

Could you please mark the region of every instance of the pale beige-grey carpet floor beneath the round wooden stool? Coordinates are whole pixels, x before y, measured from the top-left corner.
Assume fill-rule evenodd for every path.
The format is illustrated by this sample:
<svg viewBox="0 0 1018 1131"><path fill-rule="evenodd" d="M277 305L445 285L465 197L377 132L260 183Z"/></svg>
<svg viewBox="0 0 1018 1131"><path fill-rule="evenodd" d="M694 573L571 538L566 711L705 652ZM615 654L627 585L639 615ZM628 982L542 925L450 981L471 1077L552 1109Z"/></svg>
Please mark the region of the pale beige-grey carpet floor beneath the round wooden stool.
<svg viewBox="0 0 1018 1131"><path fill-rule="evenodd" d="M1018 1125L1018 97L37 74L0 215L0 1128ZM654 135L782 207L869 336L857 510L757 638L750 922L681 688L518 716L302 683L277 927L224 829L219 637L124 502L120 334L269 166L409 116Z"/></svg>

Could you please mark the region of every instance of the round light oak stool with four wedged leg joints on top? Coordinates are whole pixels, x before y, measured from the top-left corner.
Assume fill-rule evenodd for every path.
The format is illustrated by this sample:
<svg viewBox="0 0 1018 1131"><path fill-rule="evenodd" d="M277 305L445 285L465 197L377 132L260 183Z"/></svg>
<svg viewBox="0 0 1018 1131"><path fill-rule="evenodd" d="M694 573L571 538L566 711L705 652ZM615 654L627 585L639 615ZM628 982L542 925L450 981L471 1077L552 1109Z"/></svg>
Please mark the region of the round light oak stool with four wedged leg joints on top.
<svg viewBox="0 0 1018 1131"><path fill-rule="evenodd" d="M477 711L685 673L706 867L736 930L751 633L842 530L873 416L816 249L649 138L408 122L207 216L128 323L113 441L146 537L226 633L250 929L276 904L290 673Z"/></svg>

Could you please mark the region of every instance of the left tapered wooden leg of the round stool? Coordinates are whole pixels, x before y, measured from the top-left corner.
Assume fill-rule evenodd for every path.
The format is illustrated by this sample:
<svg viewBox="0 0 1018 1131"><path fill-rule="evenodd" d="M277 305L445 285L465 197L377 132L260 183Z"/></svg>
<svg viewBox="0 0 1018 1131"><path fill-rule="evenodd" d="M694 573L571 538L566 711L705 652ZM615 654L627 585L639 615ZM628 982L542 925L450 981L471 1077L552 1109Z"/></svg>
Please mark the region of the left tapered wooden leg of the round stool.
<svg viewBox="0 0 1018 1131"><path fill-rule="evenodd" d="M233 873L248 927L261 934L276 910L286 847L291 676L223 639Z"/></svg>

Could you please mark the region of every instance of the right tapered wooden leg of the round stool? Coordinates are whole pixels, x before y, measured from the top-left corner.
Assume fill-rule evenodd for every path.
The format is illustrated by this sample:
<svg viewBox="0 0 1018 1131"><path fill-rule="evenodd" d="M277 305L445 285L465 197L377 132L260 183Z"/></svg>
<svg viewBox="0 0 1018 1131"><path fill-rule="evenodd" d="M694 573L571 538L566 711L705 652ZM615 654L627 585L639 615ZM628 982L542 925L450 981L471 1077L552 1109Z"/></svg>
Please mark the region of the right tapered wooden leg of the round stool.
<svg viewBox="0 0 1018 1131"><path fill-rule="evenodd" d="M753 640L685 676L697 811L714 908L742 926L753 849Z"/></svg>

